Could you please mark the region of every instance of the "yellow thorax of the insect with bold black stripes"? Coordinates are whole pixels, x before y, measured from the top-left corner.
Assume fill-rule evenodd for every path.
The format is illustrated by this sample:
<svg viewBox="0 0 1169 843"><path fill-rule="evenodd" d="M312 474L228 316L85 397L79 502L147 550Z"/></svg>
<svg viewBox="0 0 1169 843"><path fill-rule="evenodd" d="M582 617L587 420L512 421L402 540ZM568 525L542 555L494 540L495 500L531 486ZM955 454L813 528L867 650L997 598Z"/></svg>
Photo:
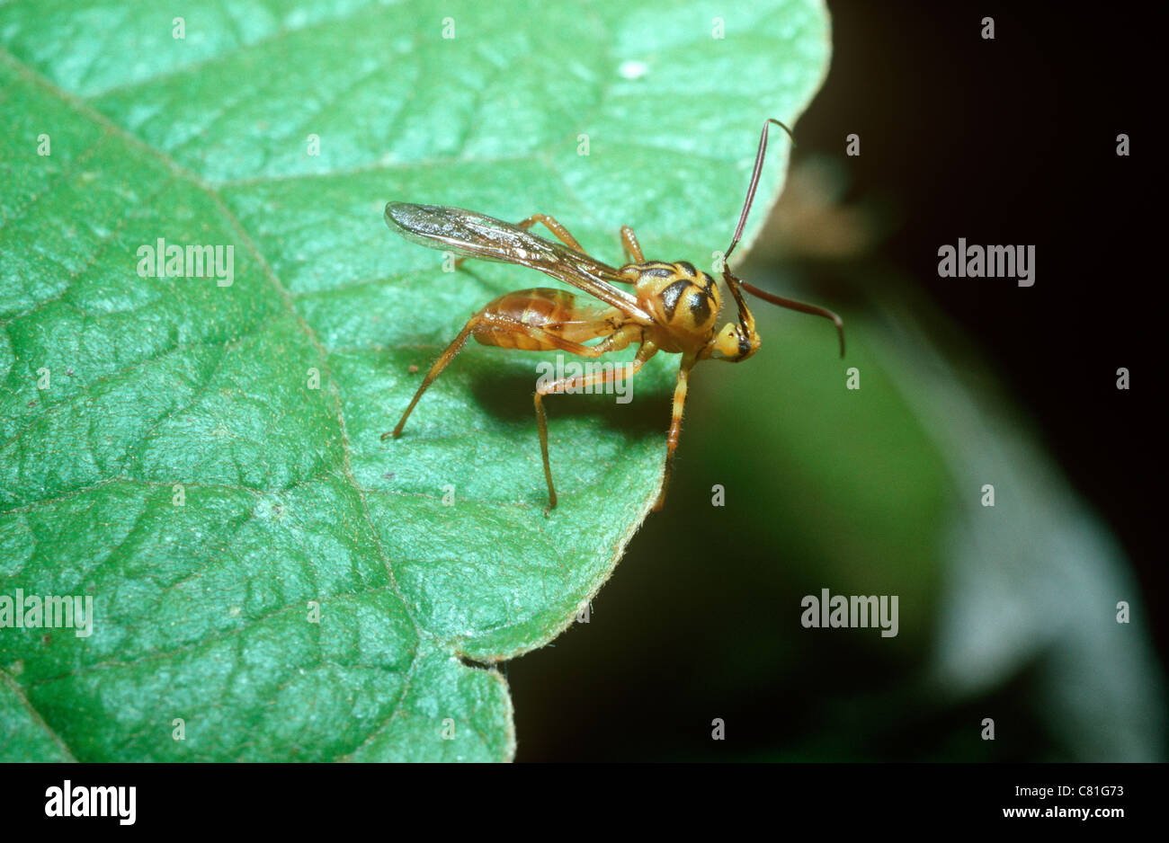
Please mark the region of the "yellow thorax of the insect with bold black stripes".
<svg viewBox="0 0 1169 843"><path fill-rule="evenodd" d="M705 340L714 332L719 314L719 288L714 279L679 260L651 260L623 267L637 273L638 304L679 339Z"/></svg>

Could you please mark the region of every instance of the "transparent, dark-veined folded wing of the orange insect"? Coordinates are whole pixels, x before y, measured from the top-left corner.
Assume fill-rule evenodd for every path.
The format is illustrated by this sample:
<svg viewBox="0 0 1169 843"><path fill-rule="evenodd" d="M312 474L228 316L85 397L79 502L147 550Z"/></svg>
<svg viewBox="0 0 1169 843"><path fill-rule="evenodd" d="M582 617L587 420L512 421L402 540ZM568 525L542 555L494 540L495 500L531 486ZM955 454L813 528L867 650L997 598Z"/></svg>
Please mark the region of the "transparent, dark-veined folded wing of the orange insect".
<svg viewBox="0 0 1169 843"><path fill-rule="evenodd" d="M479 260L520 264L572 284L628 315L651 322L637 299L613 286L611 266L594 260L566 245L537 237L518 225L484 214L433 204L390 202L386 224L419 245L455 252Z"/></svg>

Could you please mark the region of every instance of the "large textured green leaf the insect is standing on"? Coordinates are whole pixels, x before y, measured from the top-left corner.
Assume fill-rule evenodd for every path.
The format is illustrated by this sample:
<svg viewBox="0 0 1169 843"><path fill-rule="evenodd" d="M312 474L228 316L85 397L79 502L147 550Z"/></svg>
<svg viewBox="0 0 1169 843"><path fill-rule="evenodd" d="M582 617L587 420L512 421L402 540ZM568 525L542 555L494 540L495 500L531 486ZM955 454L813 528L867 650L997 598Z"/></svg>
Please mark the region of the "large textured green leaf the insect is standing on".
<svg viewBox="0 0 1169 843"><path fill-rule="evenodd" d="M506 682L482 663L547 643L613 572L659 482L676 362L630 406L548 403L547 518L548 355L472 343L382 443L411 368L551 283L442 272L382 208L548 213L614 263L630 224L648 255L710 265L763 119L819 85L826 13L184 11L177 39L151 2L0 6L0 594L94 606L89 636L0 629L0 758L507 759ZM230 286L141 277L159 238L231 246Z"/></svg>

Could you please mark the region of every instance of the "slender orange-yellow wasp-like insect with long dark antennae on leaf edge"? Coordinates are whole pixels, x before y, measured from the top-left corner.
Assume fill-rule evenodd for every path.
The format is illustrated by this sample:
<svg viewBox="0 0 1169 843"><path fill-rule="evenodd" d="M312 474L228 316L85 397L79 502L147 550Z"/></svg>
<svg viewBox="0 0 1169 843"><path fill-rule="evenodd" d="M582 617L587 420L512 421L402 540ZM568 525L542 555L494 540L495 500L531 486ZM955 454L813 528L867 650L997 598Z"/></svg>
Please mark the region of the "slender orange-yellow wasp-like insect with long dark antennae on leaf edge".
<svg viewBox="0 0 1169 843"><path fill-rule="evenodd" d="M470 336L484 346L525 351L559 349L583 357L599 357L607 351L625 348L632 342L638 343L637 355L625 370L620 367L613 369L606 367L599 372L538 383L534 395L535 424L540 432L544 475L548 481L548 506L544 510L547 515L548 510L556 506L556 490L552 483L552 466L548 462L548 425L544 412L544 396L565 389L607 383L618 374L631 377L658 351L682 354L673 392L673 417L670 432L666 434L662 490L653 504L655 511L660 510L670 485L673 452L678 446L690 370L701 360L738 363L759 350L760 339L755 332L755 318L747 308L740 287L773 305L831 319L839 333L841 356L844 356L844 325L839 316L815 305L766 293L731 274L727 266L731 252L739 245L747 214L755 198L755 188L759 186L763 155L767 152L767 133L773 123L787 132L789 138L791 137L791 130L779 120L769 118L763 123L759 151L755 154L755 168L750 174L750 184L747 188L742 213L739 215L739 225L722 256L722 280L734 298L739 322L738 325L727 322L721 330L717 329L721 297L714 279L685 260L675 263L646 260L634 230L628 225L621 228L621 243L629 263L614 269L586 255L576 238L546 214L533 214L521 223L512 225L462 208L407 202L388 203L386 224L390 229L420 245L461 255L456 265L466 258L520 264L570 284L597 301L581 300L580 297L563 290L537 287L505 293L489 302L471 316L455 341L430 367L397 426L383 433L381 438L401 436L402 427L419 403L419 398ZM793 138L793 142L794 140ZM528 229L537 223L544 224L563 245L531 234ZM632 287L632 293L615 286L616 284ZM601 342L596 344L584 344L599 339Z"/></svg>

